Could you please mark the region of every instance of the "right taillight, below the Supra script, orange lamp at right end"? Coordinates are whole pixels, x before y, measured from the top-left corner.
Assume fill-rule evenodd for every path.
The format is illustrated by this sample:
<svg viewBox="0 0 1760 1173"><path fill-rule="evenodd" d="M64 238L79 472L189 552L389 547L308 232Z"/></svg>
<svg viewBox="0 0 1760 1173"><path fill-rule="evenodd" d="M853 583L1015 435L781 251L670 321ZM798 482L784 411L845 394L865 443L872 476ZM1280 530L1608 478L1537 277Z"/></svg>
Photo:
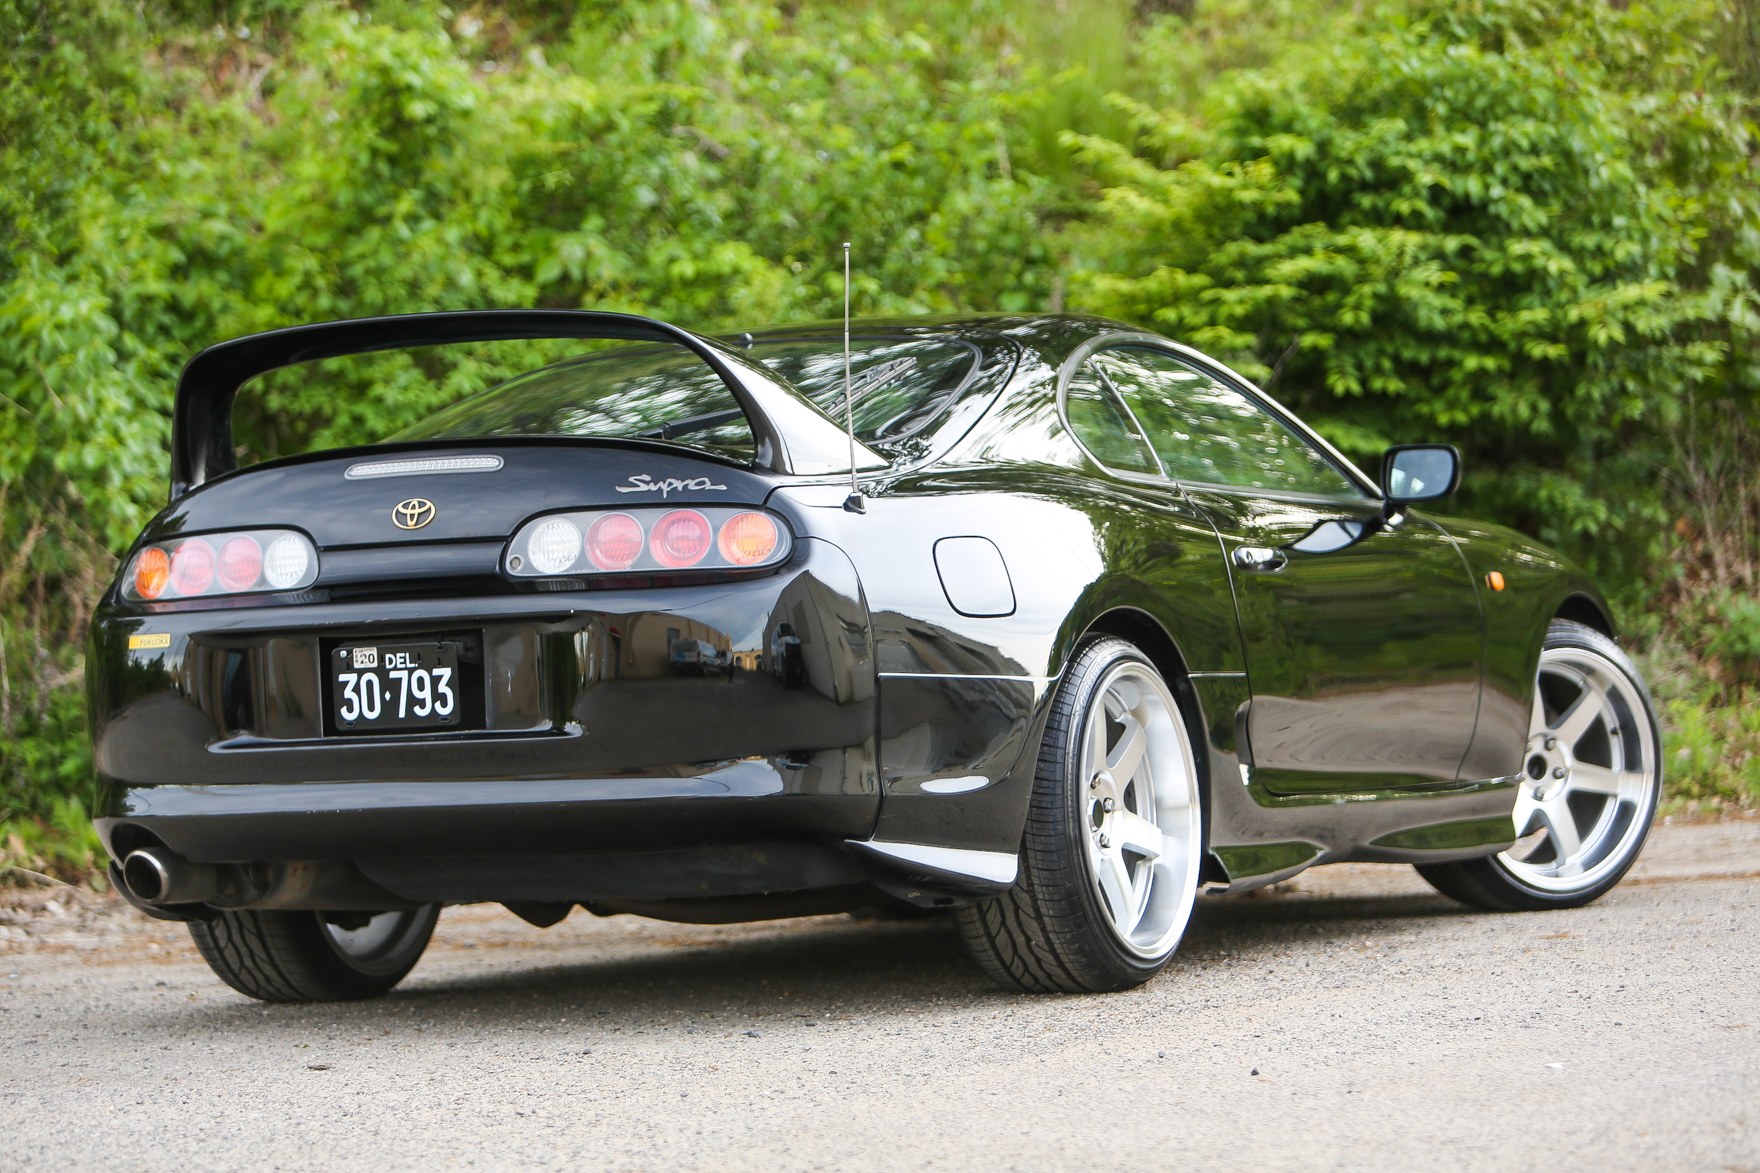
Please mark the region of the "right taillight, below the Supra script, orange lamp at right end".
<svg viewBox="0 0 1760 1173"><path fill-rule="evenodd" d="M533 518L507 542L512 578L762 571L788 560L788 527L762 509L581 509Z"/></svg>

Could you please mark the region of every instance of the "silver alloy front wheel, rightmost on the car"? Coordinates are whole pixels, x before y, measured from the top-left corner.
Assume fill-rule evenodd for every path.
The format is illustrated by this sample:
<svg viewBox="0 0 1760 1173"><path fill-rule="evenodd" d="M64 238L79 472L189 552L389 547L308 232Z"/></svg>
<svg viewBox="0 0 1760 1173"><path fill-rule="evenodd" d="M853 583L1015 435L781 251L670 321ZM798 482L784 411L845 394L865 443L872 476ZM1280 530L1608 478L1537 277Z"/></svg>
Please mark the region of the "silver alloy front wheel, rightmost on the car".
<svg viewBox="0 0 1760 1173"><path fill-rule="evenodd" d="M1568 646L1540 655L1514 810L1521 838L1498 856L1515 879L1575 893L1630 863L1656 791L1646 712L1612 660Z"/></svg>

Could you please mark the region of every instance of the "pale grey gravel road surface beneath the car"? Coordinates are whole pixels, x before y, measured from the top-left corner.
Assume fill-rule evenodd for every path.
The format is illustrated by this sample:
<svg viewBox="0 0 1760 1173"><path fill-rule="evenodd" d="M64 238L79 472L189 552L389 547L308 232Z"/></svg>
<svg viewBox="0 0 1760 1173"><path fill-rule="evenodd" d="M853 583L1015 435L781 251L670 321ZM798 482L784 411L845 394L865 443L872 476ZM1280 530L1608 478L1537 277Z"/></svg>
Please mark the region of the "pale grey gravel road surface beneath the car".
<svg viewBox="0 0 1760 1173"><path fill-rule="evenodd" d="M943 921L473 907L391 997L260 1006L114 900L0 904L5 1169L1760 1173L1760 819L1656 828L1577 912L1378 865L1206 896L1093 997Z"/></svg>

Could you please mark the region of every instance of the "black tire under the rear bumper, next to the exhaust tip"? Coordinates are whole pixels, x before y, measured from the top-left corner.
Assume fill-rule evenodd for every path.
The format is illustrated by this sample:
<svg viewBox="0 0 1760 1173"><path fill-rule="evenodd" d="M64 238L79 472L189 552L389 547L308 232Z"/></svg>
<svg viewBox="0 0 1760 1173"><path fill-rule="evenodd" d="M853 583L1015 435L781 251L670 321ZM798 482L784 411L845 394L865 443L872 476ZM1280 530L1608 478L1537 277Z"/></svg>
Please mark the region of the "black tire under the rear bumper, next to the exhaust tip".
<svg viewBox="0 0 1760 1173"><path fill-rule="evenodd" d="M359 932L368 939L352 949L354 933L331 925L326 916L356 925L373 914L220 912L208 921L190 921L190 937L220 981L246 997L262 1002L347 1002L377 997L403 981L428 948L440 905L380 912L380 918L394 919L363 926Z"/></svg>

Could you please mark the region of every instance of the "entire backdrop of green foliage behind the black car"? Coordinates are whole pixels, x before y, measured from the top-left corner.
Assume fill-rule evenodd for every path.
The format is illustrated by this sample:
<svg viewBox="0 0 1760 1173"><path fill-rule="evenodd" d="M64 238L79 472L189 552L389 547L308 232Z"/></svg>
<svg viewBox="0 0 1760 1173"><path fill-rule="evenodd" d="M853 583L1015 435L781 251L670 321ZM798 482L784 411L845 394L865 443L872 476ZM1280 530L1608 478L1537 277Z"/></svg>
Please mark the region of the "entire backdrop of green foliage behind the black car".
<svg viewBox="0 0 1760 1173"><path fill-rule="evenodd" d="M827 317L845 240L859 312L1067 303L1230 352L1357 456L1452 439L1466 507L1744 687L1751 5L1360 9L0 0L0 819L53 838L90 773L84 620L197 349L477 306ZM241 456L524 361L280 372Z"/></svg>

